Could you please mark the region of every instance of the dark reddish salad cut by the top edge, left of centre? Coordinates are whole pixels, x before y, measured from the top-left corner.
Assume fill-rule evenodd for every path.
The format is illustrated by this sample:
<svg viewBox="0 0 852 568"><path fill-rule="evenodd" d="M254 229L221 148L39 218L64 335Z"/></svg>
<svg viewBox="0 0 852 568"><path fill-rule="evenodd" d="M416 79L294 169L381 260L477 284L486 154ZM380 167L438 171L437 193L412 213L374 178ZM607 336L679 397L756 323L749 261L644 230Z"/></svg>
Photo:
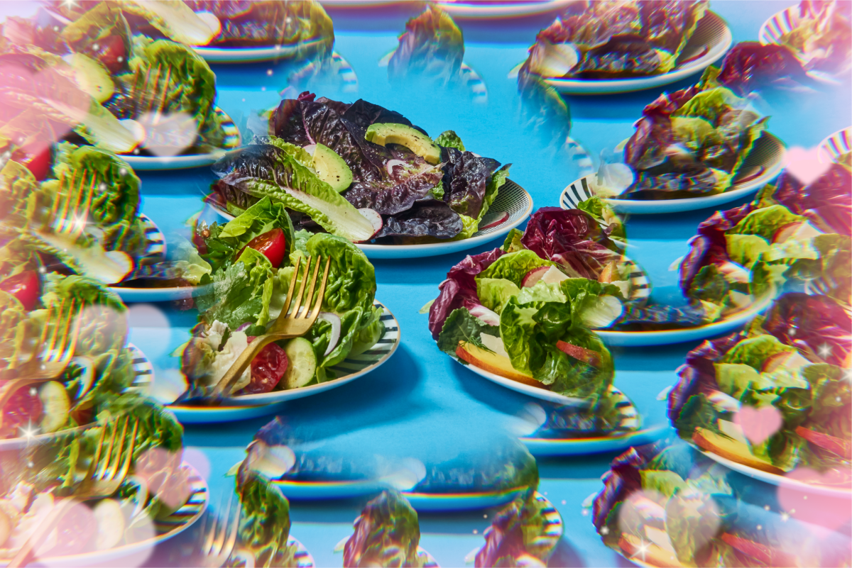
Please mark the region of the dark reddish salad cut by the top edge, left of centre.
<svg viewBox="0 0 852 568"><path fill-rule="evenodd" d="M213 14L221 30L208 47L257 48L305 44L331 55L334 27L314 0L183 0L194 12ZM209 16L207 16L209 17Z"/></svg>

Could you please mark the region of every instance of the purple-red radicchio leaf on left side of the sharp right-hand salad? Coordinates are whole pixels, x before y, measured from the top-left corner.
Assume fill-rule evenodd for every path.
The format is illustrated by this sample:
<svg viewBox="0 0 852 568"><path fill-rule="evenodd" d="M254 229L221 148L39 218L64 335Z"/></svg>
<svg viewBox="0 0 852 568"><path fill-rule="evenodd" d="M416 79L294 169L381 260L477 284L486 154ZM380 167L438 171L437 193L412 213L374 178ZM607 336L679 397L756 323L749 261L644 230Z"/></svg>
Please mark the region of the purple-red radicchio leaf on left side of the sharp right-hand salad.
<svg viewBox="0 0 852 568"><path fill-rule="evenodd" d="M504 254L503 250L495 248L487 253L468 255L446 273L446 280L438 287L440 294L429 308L429 331L435 341L438 340L440 330L444 328L444 322L453 310L480 305L476 295L475 276Z"/></svg>

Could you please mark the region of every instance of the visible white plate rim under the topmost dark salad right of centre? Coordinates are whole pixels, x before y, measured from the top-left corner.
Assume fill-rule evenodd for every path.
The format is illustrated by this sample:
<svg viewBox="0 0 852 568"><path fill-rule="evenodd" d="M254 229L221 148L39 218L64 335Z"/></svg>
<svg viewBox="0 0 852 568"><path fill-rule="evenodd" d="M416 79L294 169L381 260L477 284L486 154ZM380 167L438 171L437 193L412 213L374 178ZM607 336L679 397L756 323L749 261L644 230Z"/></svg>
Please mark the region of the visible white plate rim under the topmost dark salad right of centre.
<svg viewBox="0 0 852 568"><path fill-rule="evenodd" d="M659 87L671 82L680 81L707 67L722 58L734 43L734 37L725 20L713 12L708 11L704 18L699 20L693 37L683 48L678 60L683 63L676 65L668 73L652 75L650 77L635 77L629 79L561 79L546 78L547 84L556 88L560 93L566 94L613 94L629 93L646 88Z"/></svg>

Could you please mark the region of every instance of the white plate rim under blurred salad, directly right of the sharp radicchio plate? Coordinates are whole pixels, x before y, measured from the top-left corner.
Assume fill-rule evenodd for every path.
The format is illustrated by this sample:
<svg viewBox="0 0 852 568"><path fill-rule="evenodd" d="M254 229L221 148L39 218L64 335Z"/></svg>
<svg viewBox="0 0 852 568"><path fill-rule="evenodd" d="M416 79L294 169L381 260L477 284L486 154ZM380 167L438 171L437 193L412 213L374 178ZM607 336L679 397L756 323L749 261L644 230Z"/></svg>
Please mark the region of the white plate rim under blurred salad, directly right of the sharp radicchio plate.
<svg viewBox="0 0 852 568"><path fill-rule="evenodd" d="M653 332L610 332L597 330L603 343L618 347L642 347L645 345L669 345L686 341L714 338L734 332L751 321L755 315L763 312L772 304L772 298L763 298L749 309L735 312L722 320L708 323L705 326L684 327L682 329L665 329Z"/></svg>

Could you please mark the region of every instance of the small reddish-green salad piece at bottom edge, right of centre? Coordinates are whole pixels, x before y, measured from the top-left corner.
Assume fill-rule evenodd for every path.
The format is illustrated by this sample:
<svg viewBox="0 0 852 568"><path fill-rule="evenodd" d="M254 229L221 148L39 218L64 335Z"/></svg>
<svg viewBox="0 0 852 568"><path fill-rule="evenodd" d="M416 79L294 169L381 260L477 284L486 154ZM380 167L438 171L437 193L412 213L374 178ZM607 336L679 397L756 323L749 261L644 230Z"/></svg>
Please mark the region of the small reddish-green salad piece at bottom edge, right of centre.
<svg viewBox="0 0 852 568"><path fill-rule="evenodd" d="M537 484L538 485L538 484ZM553 506L538 497L530 486L498 514L483 534L485 546L475 557L475 568L521 568L547 565L556 551L561 531L548 531L550 520L545 512ZM558 513L556 513L558 515Z"/></svg>

